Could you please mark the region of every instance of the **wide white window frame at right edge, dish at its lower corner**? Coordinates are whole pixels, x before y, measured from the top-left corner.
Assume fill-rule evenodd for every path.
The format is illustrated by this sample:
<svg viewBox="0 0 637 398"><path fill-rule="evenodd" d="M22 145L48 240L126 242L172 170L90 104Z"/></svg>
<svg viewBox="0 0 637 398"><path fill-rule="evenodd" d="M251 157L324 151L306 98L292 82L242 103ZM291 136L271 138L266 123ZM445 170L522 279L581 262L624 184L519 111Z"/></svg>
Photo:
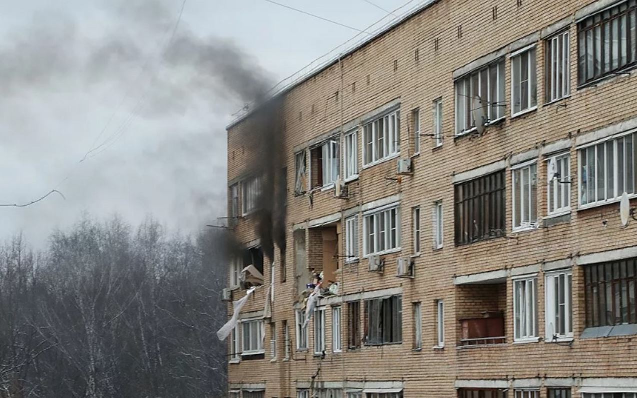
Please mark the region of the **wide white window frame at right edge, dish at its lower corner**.
<svg viewBox="0 0 637 398"><path fill-rule="evenodd" d="M633 164L631 165L632 168L632 172L633 172L633 189L631 191L629 191L629 179L628 179L628 165L627 165L627 155L629 154L629 151L627 151L626 149L626 139L627 137L631 135L631 146L633 146L633 154L631 155L631 157L633 158ZM577 161L578 161L578 167L577 167L577 174L578 174L578 205L580 207L580 209L587 209L589 207L596 207L599 205L604 205L607 203L614 203L614 202L619 202L623 191L620 191L619 189L619 142L620 140L622 141L622 156L624 159L624 165L622 167L622 176L624 177L624 181L622 182L623 188L624 190L626 190L626 192L628 193L629 198L635 198L637 197L637 184L634 184L634 175L637 172L637 160L635 159L634 156L634 146L636 144L635 141L637 141L637 133L634 132L634 130L631 130L631 132L629 133L622 133L622 134L618 134L618 135L614 135L613 137L608 137L606 139L600 140L600 141L596 141L596 142L592 142L590 144L587 144L585 146L579 147L577 148ZM608 170L608 149L609 149L609 145L612 147L612 151L613 151L613 161L612 161L612 165L613 165L613 170L612 170L612 176L608 175L609 174L609 170ZM601 148L605 148L605 167L604 167L604 171L605 171L605 180L604 180L604 184L605 184L605 196L608 196L608 182L609 179L608 177L612 177L612 182L613 182L613 196L610 197L605 197L604 199L598 199L598 193L599 193L599 179L597 178L597 172L598 172L598 159L599 159L599 154L598 152L601 150ZM583 168L584 167L588 167L589 166L589 162L588 160L586 161L586 165L584 165L583 160L582 160L582 156L583 153L588 153L589 151L593 151L594 152L594 157L596 158L596 170L595 170L595 177L594 177L594 184L595 184L595 188L594 188L594 193L596 195L596 200L594 201L589 201L587 200L586 203L583 203L583 193L585 193L583 191L583 183L585 182L584 180L587 180L587 176L588 176L588 171L584 171ZM586 175L585 175L586 174ZM588 184L588 181L586 181ZM586 191L586 196L588 198L588 189Z"/></svg>

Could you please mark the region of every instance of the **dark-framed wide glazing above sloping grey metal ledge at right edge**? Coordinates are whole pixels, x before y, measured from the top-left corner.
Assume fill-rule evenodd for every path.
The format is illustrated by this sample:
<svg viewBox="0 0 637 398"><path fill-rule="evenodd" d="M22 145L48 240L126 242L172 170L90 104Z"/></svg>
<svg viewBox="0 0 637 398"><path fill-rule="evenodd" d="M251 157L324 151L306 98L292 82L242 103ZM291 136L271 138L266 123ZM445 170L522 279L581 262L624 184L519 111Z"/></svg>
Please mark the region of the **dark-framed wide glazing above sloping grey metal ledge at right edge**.
<svg viewBox="0 0 637 398"><path fill-rule="evenodd" d="M584 267L586 326L637 323L635 259Z"/></svg>

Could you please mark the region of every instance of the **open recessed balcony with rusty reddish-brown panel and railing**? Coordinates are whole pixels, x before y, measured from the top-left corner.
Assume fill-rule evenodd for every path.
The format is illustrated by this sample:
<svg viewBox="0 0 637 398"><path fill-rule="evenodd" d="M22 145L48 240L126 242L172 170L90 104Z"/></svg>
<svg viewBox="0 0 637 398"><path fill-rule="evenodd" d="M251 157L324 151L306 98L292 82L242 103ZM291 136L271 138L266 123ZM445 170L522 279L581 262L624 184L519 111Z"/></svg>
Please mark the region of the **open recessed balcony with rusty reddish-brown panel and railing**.
<svg viewBox="0 0 637 398"><path fill-rule="evenodd" d="M458 347L506 343L506 280L457 284Z"/></svg>

